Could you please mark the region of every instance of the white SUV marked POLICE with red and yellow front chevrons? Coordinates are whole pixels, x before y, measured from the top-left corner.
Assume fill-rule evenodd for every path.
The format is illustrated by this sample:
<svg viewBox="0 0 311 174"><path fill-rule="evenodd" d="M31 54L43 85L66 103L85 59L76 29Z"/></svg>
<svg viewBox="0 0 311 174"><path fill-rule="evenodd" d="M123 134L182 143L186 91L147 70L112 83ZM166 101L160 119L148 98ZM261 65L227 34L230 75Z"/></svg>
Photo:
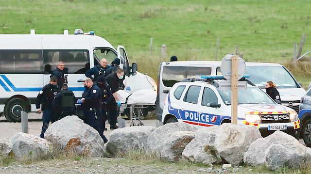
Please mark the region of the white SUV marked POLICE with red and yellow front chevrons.
<svg viewBox="0 0 311 174"><path fill-rule="evenodd" d="M219 88L220 79L184 79L167 95L162 122L185 122L195 127L219 126L231 122L231 91ZM276 130L299 137L297 113L277 104L259 87L248 84L238 91L238 124L259 128L262 136Z"/></svg>

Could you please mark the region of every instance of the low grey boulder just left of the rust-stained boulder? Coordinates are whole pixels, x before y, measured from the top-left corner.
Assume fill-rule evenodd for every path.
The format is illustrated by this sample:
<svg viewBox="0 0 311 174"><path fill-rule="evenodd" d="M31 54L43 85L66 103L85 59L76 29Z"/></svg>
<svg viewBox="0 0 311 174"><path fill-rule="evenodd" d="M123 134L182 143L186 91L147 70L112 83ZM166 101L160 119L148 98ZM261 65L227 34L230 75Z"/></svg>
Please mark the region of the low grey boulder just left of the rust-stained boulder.
<svg viewBox="0 0 311 174"><path fill-rule="evenodd" d="M10 141L16 158L45 156L52 150L51 142L27 133L19 132Z"/></svg>

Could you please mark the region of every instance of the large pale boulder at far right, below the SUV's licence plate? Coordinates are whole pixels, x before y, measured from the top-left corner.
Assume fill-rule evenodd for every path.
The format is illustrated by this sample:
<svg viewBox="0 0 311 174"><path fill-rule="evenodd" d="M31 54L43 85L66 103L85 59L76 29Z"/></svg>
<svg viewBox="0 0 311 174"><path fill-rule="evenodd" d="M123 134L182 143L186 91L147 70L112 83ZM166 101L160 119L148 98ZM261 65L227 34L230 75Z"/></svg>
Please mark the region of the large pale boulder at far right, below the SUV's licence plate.
<svg viewBox="0 0 311 174"><path fill-rule="evenodd" d="M278 130L253 142L243 160L252 166L265 164L272 170L283 165L300 169L311 160L311 149Z"/></svg>

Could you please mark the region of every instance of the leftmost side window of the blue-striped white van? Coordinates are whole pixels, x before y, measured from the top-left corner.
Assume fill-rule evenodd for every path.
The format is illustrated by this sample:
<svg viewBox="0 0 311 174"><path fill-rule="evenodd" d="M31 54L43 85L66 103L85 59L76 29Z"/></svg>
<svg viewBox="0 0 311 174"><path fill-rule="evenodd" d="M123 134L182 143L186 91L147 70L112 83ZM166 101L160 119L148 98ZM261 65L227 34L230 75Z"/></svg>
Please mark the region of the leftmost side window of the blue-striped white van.
<svg viewBox="0 0 311 174"><path fill-rule="evenodd" d="M43 73L40 50L1 50L0 73Z"/></svg>

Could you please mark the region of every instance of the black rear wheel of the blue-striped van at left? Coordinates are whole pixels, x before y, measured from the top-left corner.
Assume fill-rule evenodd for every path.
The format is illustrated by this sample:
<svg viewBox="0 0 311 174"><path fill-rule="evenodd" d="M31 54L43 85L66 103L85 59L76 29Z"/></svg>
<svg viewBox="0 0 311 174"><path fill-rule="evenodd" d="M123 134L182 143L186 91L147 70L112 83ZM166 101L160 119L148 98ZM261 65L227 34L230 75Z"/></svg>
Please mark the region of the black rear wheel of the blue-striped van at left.
<svg viewBox="0 0 311 174"><path fill-rule="evenodd" d="M4 108L4 116L9 122L20 122L20 112L27 111L27 103L21 98L9 100Z"/></svg>

